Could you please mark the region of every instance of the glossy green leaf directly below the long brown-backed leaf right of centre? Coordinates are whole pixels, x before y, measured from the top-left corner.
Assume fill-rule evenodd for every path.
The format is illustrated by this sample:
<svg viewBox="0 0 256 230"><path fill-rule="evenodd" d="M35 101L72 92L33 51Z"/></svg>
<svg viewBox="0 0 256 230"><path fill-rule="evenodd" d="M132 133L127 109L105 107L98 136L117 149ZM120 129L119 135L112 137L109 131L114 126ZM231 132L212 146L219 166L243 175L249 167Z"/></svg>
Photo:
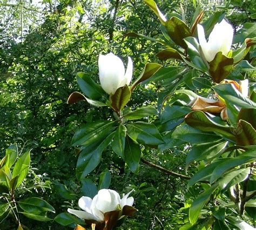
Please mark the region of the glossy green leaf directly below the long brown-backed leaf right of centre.
<svg viewBox="0 0 256 230"><path fill-rule="evenodd" d="M213 141L220 140L219 136L211 132L203 132L193 128L187 124L180 125L174 130L172 138L184 140L190 143L212 143Z"/></svg>

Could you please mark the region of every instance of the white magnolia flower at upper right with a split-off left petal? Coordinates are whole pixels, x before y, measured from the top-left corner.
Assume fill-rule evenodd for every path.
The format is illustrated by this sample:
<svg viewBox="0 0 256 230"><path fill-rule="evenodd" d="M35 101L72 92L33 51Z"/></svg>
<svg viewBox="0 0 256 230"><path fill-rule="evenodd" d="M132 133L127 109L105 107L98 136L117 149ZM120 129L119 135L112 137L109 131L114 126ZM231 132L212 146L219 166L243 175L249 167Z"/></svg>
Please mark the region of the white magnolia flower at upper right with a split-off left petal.
<svg viewBox="0 0 256 230"><path fill-rule="evenodd" d="M203 26L198 24L197 32L199 44L207 62L211 62L219 51L225 56L230 51L233 39L233 28L225 21L225 19L214 25L208 38L208 42L206 42L205 39Z"/></svg>

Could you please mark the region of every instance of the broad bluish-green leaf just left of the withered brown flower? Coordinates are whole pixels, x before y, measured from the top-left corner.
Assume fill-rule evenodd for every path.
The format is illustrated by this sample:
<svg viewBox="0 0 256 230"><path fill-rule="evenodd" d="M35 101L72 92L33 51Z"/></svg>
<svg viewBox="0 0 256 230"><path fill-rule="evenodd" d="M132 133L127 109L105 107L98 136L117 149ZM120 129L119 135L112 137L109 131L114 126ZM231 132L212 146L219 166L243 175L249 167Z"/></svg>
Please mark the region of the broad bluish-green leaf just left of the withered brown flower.
<svg viewBox="0 0 256 230"><path fill-rule="evenodd" d="M160 120L161 123L165 123L172 119L185 117L185 115L190 112L190 107L167 104L164 108L164 112L161 114Z"/></svg>

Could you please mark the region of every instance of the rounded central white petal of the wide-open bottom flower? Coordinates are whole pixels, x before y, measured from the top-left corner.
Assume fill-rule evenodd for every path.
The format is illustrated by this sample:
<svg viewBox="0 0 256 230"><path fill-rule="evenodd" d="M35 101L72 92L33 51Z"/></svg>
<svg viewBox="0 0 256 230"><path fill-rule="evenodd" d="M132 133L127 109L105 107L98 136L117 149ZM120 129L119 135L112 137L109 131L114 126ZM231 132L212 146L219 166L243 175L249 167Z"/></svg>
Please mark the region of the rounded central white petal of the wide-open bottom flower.
<svg viewBox="0 0 256 230"><path fill-rule="evenodd" d="M98 192L96 208L103 213L110 212L117 210L120 202L120 196L116 191L103 189Z"/></svg>

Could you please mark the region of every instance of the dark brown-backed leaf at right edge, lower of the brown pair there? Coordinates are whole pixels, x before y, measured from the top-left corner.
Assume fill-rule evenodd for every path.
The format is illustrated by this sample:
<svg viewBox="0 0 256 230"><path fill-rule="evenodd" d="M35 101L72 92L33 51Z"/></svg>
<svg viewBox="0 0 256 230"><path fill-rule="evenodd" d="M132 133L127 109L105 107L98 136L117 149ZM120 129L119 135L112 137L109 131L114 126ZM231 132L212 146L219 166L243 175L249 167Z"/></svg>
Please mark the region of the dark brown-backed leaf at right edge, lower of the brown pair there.
<svg viewBox="0 0 256 230"><path fill-rule="evenodd" d="M245 120L238 121L238 127L235 130L235 138L237 138L238 145L256 145L256 131L252 125Z"/></svg>

